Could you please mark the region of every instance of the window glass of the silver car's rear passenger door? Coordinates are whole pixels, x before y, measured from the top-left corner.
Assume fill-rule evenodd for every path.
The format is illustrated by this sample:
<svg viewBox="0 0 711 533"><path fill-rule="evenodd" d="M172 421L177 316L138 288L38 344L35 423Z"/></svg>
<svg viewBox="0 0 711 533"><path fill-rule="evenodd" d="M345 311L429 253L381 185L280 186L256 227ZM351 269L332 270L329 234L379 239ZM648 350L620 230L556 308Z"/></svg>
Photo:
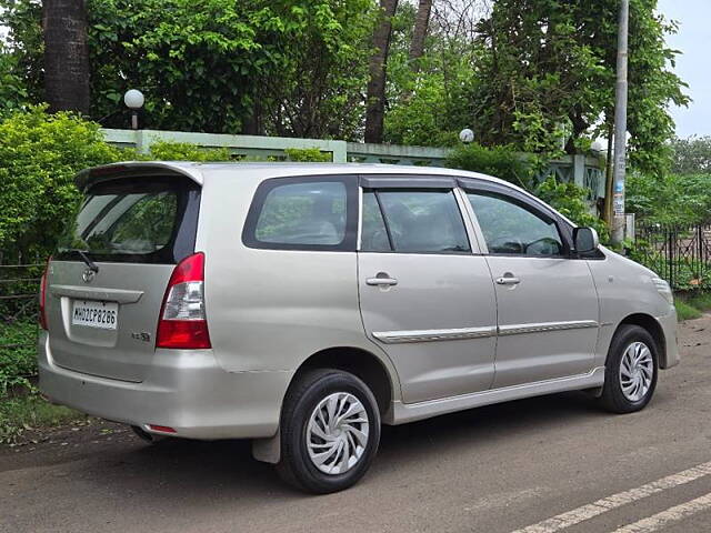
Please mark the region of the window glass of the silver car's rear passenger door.
<svg viewBox="0 0 711 533"><path fill-rule="evenodd" d="M389 239L388 248L391 245L395 252L457 253L471 250L452 191L380 190L367 193L363 197L363 217L368 195L372 197L368 200L371 205L369 209L375 210L380 204L384 219L384 228L372 232L371 251L379 251L375 247L383 247L382 229L385 229L385 238ZM363 219L364 238L365 228L372 225ZM363 239L365 243L367 239Z"/></svg>

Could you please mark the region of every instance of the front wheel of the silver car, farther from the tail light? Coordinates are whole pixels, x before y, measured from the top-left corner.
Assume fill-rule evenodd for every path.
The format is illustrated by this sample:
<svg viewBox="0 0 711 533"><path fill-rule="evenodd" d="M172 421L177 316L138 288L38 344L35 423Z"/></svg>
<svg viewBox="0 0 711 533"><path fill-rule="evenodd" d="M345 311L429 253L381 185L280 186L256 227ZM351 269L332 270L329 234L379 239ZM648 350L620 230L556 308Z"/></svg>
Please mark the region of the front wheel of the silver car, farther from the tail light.
<svg viewBox="0 0 711 533"><path fill-rule="evenodd" d="M640 411L657 388L659 353L652 335L639 325L624 324L610 343L600 401L613 413Z"/></svg>

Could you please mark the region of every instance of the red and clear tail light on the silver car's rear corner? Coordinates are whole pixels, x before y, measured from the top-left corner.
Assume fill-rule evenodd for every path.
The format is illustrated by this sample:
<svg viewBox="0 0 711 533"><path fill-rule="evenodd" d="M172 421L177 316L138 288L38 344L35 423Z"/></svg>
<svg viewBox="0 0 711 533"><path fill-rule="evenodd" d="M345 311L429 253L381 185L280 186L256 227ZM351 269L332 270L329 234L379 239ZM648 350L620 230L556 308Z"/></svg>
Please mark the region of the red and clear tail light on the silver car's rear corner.
<svg viewBox="0 0 711 533"><path fill-rule="evenodd" d="M160 310L156 348L196 350L211 348L204 314L204 253L176 265Z"/></svg>

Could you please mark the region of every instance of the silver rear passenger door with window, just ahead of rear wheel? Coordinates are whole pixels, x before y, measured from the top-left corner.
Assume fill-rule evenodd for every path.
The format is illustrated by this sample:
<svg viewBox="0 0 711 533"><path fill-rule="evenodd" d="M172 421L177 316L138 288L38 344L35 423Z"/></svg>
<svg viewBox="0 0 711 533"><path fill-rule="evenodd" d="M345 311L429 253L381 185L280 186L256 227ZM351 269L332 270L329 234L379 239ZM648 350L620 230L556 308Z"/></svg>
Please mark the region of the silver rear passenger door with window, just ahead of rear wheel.
<svg viewBox="0 0 711 533"><path fill-rule="evenodd" d="M451 179L362 182L363 326L392 360L403 401L488 390L494 291L485 259L469 242L465 200Z"/></svg>

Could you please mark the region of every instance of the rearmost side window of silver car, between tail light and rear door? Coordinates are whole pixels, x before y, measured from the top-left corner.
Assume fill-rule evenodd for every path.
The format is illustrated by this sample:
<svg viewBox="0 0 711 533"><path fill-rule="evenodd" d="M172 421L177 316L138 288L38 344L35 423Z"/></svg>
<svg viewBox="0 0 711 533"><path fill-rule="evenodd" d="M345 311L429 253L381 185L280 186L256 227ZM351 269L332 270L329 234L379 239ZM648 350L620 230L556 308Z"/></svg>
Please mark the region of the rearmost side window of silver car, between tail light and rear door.
<svg viewBox="0 0 711 533"><path fill-rule="evenodd" d="M348 211L357 211L349 203L358 201L350 200L347 189L344 181L337 180L262 183L247 219L244 243L267 249L346 249L351 230Z"/></svg>

